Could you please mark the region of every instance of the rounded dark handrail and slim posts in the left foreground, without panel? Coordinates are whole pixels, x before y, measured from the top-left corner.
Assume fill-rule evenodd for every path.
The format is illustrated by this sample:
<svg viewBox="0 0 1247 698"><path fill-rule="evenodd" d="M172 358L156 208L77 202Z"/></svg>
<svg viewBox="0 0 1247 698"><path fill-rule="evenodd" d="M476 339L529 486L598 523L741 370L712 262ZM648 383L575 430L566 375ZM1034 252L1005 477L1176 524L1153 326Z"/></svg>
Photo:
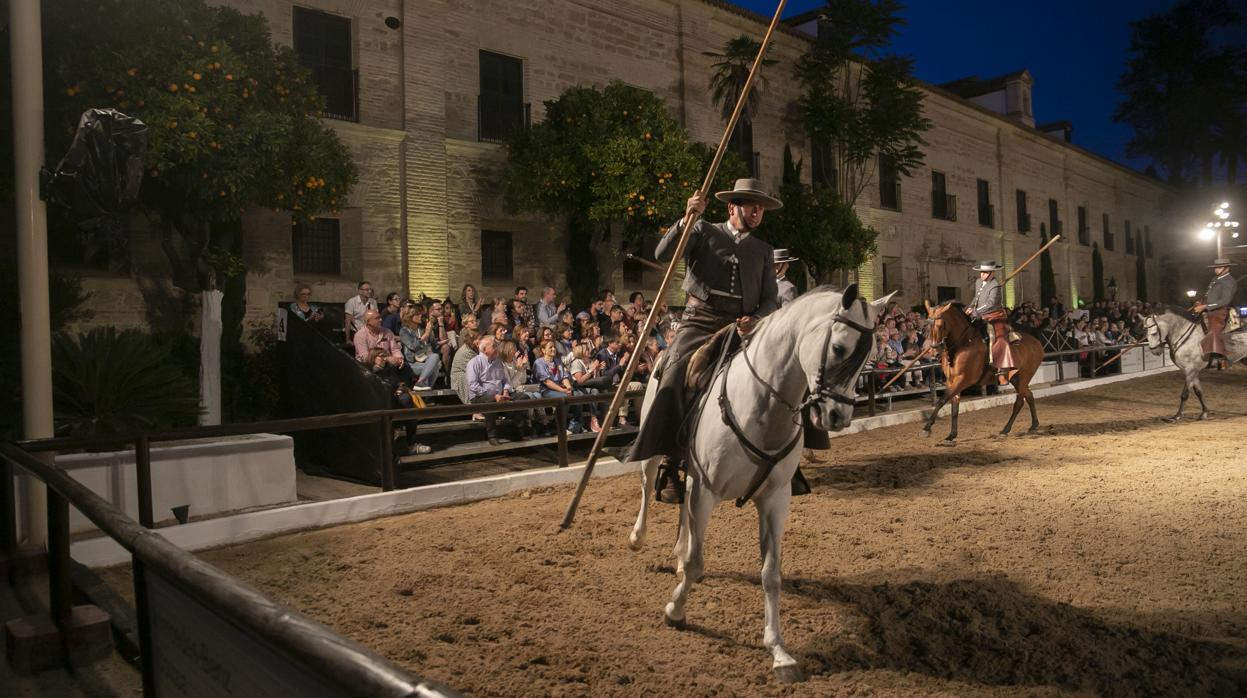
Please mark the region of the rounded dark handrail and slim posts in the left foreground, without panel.
<svg viewBox="0 0 1247 698"><path fill-rule="evenodd" d="M49 490L49 511L62 519L59 526L50 527L50 532L55 531L57 536L49 540L50 575L55 577L51 582L54 610L67 608L71 602L65 598L69 593L69 509L64 505L67 501L130 551L138 563L136 570L157 572L209 611L288 652L306 668L315 669L317 676L330 677L343 694L458 696L453 689L408 674L364 646L271 601L254 587L183 551L126 516L60 467L44 464L12 444L0 444L0 457L39 477ZM11 502L6 506L11 507ZM135 580L136 605L145 605L147 600L141 575ZM64 611L54 611L54 619L64 622ZM150 629L142 627L145 624L141 622L141 642L148 644ZM150 647L145 647L143 656L147 659L143 683L145 688L150 688Z"/></svg>

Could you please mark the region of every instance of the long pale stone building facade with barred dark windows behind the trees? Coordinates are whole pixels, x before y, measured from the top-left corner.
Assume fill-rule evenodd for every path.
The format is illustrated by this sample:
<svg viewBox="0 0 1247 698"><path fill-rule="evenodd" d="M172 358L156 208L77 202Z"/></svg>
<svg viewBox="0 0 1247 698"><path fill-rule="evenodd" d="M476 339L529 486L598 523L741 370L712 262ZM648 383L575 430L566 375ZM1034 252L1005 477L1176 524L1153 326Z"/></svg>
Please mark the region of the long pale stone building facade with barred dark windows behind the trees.
<svg viewBox="0 0 1247 698"><path fill-rule="evenodd" d="M718 0L223 4L263 14L278 44L298 49L301 42L328 41L338 50L337 65L325 74L335 90L347 81L349 113L325 123L349 146L360 172L349 206L328 221L332 229L320 231L337 239L335 264L329 267L324 259L309 267L296 258L294 238L306 231L292 228L288 217L246 216L248 319L261 324L272 318L277 302L292 297L296 283L311 284L314 298L324 302L344 300L362 278L379 294L458 298L465 283L486 295L509 295L520 284L561 288L562 226L504 211L499 172L506 153L490 131L499 123L540 121L542 102L567 87L622 80L663 98L695 140L715 143L723 122L707 85L715 59L705 54L742 34L761 39L766 30L766 17ZM313 24L328 26L333 36L309 37L299 17L324 20ZM768 69L753 125L758 176L773 188L784 145L809 162L804 135L784 120L787 105L799 93L792 66L812 40L798 25L786 25L774 37L769 56L779 64ZM1163 219L1168 189L1034 128L1029 82L1025 87L1024 117L923 87L934 123L925 136L925 166L900 182L893 209L880 206L878 181L858 202L862 219L880 233L878 256L855 272L868 294L899 289L905 304L940 294L964 298L971 288L969 263L998 258L1011 267L1038 248L1041 228L1056 228L1064 241L1052 261L1064 300L1090 295L1092 242L1104 248L1105 278L1116 279L1119 298L1132 298L1135 258L1125 239L1137 249L1134 236L1140 234L1150 238L1143 248L1152 251L1146 263L1151 294L1157 295L1160 261L1176 244ZM1020 103L1018 96L1013 93L1011 103ZM804 171L808 177L809 167ZM953 213L944 206L940 217L934 216L933 172L943 176L944 192L955 196ZM980 224L976 198L983 182L991 213ZM1019 191L1025 192L1029 231L1019 231L1025 219L1018 214ZM1049 217L1050 199L1060 223ZM1079 239L1080 209L1087 244ZM764 227L759 234L766 236ZM135 254L158 249L152 246L136 239ZM657 273L625 278L622 267L616 259L617 292L657 287ZM90 277L86 287L106 300L94 323L141 323L133 280ZM1036 263L1011 284L1010 298L1038 294Z"/></svg>

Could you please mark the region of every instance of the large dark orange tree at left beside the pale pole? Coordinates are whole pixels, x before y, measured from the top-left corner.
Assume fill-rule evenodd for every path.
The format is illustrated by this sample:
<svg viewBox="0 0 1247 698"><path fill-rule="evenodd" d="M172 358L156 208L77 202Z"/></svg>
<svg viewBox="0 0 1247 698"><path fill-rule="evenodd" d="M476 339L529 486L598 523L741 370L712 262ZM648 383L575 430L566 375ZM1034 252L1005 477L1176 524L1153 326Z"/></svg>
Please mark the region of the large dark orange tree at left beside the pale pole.
<svg viewBox="0 0 1247 698"><path fill-rule="evenodd" d="M42 26L49 165L86 108L113 107L147 123L137 206L160 236L172 284L186 292L183 310L188 294L209 284L224 290L228 358L242 332L242 213L333 212L358 178L345 146L314 116L324 105L309 74L293 50L273 45L262 16L203 0L45 2ZM2 44L7 55L6 35ZM0 72L7 82L9 71ZM6 84L0 102L9 120ZM0 150L10 147L0 138ZM11 194L11 182L0 189ZM127 237L87 244L123 249ZM188 332L188 318L171 334Z"/></svg>

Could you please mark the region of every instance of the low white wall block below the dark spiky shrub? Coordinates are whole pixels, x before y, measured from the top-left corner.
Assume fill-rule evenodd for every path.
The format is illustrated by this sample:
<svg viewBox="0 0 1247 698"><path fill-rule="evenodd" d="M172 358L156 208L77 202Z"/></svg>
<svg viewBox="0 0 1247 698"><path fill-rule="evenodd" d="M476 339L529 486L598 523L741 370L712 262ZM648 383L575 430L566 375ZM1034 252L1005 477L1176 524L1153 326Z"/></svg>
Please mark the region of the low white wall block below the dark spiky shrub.
<svg viewBox="0 0 1247 698"><path fill-rule="evenodd" d="M254 434L212 441L152 446L152 516L172 520L172 507L188 505L191 516L291 504L294 440ZM56 459L79 482L138 520L135 451L70 454ZM95 530L70 507L70 532Z"/></svg>

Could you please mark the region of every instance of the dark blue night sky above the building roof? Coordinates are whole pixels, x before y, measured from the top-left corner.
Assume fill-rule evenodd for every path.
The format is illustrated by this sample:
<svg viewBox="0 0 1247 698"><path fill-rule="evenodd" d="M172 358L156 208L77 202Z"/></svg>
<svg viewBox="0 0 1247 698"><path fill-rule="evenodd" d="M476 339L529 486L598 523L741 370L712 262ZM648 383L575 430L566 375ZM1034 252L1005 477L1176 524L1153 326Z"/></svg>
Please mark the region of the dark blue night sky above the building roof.
<svg viewBox="0 0 1247 698"><path fill-rule="evenodd" d="M768 17L778 5L771 0L731 1ZM1067 120L1074 123L1077 146L1142 170L1146 160L1126 158L1130 128L1112 122L1121 98L1117 77L1126 67L1130 22L1161 14L1173 4L910 0L903 12L908 24L893 46L915 60L920 80L933 84L1028 69L1035 79L1036 123ZM822 5L822 0L789 0L784 17Z"/></svg>

